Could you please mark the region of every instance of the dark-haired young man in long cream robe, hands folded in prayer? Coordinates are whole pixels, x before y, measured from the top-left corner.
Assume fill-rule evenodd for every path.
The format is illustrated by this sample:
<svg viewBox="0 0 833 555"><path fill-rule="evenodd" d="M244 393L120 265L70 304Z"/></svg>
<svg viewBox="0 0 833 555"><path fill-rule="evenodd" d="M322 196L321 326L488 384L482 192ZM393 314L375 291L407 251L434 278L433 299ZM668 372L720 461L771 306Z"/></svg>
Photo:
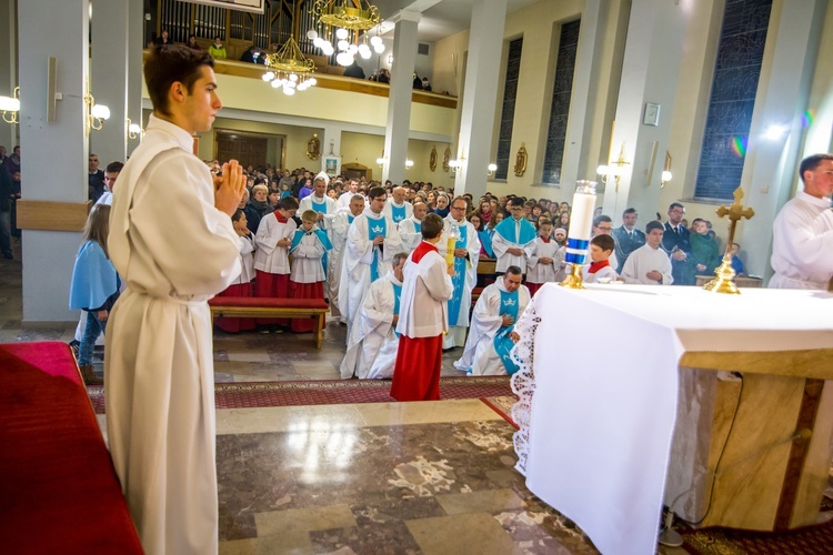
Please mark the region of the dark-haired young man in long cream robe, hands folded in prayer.
<svg viewBox="0 0 833 555"><path fill-rule="evenodd" d="M218 552L214 369L207 301L240 274L231 214L245 189L193 155L222 107L213 61L185 47L144 62L153 114L113 194L108 246L127 282L108 324L107 431L142 547ZM190 85L185 83L191 83Z"/></svg>

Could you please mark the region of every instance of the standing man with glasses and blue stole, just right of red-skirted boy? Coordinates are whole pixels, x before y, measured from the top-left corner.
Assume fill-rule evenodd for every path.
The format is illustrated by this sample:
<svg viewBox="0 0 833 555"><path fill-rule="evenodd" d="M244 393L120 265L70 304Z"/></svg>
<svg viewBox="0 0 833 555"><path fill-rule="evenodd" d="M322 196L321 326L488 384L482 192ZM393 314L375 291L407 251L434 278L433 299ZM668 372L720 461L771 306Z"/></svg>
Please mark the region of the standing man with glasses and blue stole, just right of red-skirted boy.
<svg viewBox="0 0 833 555"><path fill-rule="evenodd" d="M443 336L442 349L448 351L465 344L465 332L469 329L469 309L471 292L478 284L478 261L480 259L480 239L478 230L465 220L469 204L462 196L451 201L449 215L443 223L443 236L438 248L440 255L446 256L450 238L454 243L454 294L449 300L449 331Z"/></svg>

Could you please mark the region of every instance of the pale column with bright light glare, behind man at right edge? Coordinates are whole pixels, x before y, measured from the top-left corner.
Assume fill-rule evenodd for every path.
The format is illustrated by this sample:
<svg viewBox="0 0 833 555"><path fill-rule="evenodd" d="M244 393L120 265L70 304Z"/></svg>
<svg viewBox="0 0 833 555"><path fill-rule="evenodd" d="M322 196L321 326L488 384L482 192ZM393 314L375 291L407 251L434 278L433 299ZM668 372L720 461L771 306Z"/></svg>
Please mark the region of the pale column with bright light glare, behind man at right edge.
<svg viewBox="0 0 833 555"><path fill-rule="evenodd" d="M746 271L753 275L772 275L772 222L800 181L796 170L802 124L825 7L824 0L783 2L777 29L770 23L767 42L773 40L777 48L769 73L761 73L765 81L761 79L759 91L765 91L765 97L762 103L755 103L746 150L751 155L746 155L741 178L746 193L743 203L755 210L755 216L743 224ZM775 6L772 17L777 17ZM767 132L776 125L783 129L783 135L767 139ZM797 186L802 189L801 184Z"/></svg>

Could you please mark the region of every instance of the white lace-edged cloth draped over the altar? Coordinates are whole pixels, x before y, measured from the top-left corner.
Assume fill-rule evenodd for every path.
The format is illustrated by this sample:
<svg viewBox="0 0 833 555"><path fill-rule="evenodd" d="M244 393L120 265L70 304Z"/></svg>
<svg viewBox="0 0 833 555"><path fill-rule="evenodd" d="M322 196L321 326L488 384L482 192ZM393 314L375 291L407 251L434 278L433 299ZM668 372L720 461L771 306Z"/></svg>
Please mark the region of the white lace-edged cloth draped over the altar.
<svg viewBox="0 0 833 555"><path fill-rule="evenodd" d="M819 291L546 284L515 325L526 485L605 554L655 552L686 352L833 347Z"/></svg>

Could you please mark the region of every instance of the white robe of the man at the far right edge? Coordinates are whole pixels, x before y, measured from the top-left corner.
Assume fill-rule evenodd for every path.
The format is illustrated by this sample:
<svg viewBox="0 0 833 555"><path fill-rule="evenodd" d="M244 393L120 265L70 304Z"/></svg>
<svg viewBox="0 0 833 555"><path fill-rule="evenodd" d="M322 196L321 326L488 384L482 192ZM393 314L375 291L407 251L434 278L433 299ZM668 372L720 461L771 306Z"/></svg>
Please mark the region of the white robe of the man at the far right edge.
<svg viewBox="0 0 833 555"><path fill-rule="evenodd" d="M774 289L827 290L833 278L833 211L830 200L803 191L784 204L772 225Z"/></svg>

